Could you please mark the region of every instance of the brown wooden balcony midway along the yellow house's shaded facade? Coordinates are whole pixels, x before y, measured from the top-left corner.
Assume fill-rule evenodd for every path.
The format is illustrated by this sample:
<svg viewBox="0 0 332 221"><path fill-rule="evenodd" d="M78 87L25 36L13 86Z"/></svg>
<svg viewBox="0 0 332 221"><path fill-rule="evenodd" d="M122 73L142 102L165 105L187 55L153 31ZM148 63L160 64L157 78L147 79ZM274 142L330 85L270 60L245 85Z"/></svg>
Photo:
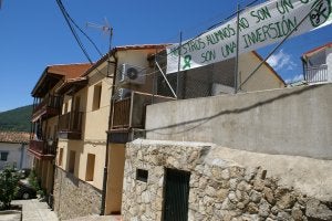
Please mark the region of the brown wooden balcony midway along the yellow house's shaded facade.
<svg viewBox="0 0 332 221"><path fill-rule="evenodd" d="M83 112L70 112L59 117L59 137L81 139Z"/></svg>

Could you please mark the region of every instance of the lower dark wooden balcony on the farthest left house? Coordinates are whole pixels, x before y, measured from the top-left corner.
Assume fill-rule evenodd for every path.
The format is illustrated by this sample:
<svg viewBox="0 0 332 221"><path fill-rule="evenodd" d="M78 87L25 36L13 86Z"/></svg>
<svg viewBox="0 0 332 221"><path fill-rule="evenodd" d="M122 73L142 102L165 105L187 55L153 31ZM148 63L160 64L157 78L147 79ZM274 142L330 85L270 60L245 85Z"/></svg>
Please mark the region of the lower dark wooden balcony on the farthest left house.
<svg viewBox="0 0 332 221"><path fill-rule="evenodd" d="M38 159L53 159L56 154L56 141L50 146L45 140L30 140L29 151Z"/></svg>

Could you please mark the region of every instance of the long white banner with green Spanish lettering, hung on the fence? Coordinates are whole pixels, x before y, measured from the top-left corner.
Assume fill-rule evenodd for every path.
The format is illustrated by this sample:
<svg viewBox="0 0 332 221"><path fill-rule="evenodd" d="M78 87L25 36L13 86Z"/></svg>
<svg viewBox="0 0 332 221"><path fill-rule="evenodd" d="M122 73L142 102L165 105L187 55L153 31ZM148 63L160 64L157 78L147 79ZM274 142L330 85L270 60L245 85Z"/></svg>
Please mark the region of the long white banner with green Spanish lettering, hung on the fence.
<svg viewBox="0 0 332 221"><path fill-rule="evenodd" d="M239 53L282 41L294 29L291 36L331 24L331 0L271 0L248 8L239 19ZM234 18L198 38L183 42L180 50L179 44L168 46L167 74L236 56L236 30L237 18Z"/></svg>

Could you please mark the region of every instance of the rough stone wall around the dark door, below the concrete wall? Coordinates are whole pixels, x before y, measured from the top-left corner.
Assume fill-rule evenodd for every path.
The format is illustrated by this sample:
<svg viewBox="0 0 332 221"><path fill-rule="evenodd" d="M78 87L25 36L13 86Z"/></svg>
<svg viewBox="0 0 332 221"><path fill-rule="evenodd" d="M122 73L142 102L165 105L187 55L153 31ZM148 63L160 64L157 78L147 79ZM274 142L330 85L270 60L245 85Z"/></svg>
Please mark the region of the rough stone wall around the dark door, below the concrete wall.
<svg viewBox="0 0 332 221"><path fill-rule="evenodd" d="M214 158L212 148L200 143L127 144L124 220L162 220L165 168L190 172L188 220L332 220L331 201L283 186L282 177L262 167ZM136 169L148 170L147 182L136 180Z"/></svg>

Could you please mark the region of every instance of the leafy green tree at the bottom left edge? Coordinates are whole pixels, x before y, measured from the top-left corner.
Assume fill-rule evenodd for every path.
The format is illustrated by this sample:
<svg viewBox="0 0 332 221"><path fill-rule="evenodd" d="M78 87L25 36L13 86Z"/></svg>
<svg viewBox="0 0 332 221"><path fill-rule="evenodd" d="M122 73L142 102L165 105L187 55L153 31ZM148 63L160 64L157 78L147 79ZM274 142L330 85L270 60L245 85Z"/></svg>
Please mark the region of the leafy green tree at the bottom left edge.
<svg viewBox="0 0 332 221"><path fill-rule="evenodd" d="M7 167L0 172L0 202L2 209L10 209L11 200L17 193L19 180L20 177L12 167Z"/></svg>

